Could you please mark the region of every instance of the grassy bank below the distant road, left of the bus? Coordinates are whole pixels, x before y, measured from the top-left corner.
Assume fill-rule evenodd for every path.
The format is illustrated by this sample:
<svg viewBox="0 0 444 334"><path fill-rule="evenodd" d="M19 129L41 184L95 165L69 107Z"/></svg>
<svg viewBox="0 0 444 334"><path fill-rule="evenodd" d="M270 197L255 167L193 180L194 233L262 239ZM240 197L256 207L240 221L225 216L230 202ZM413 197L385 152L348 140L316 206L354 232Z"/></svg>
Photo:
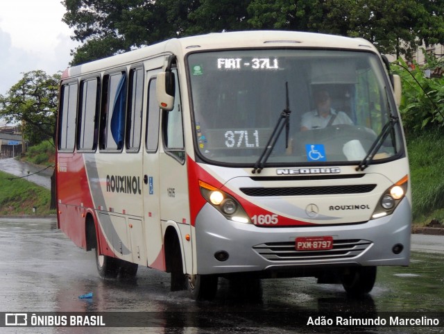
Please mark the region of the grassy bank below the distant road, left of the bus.
<svg viewBox="0 0 444 334"><path fill-rule="evenodd" d="M10 174L0 172L0 215L38 215L55 214L49 209L51 193L40 185L28 182L22 178L13 178Z"/></svg>

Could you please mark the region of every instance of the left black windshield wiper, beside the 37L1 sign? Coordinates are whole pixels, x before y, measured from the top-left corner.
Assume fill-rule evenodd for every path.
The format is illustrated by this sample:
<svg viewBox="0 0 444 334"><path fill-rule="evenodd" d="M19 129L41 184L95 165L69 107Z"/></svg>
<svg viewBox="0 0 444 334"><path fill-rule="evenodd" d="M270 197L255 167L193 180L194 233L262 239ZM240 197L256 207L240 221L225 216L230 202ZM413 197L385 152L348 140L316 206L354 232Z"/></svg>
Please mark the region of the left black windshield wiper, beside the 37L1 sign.
<svg viewBox="0 0 444 334"><path fill-rule="evenodd" d="M286 108L282 110L280 117L278 119L278 123L276 124L275 128L273 129L273 132L270 135L270 138L268 138L268 142L265 145L264 151L262 151L261 156L259 156L259 159L257 159L255 163L255 167L251 171L253 174L257 172L257 174L260 174L262 172L262 169L264 169L264 165L266 163L266 160L268 160L268 157L271 154L271 151L273 151L273 148L275 147L276 142L278 141L278 138L280 136L280 133L282 133L282 129L285 126L285 148L287 149L289 147L289 131L290 131L290 107L289 107L289 83L288 81L285 83L285 90L286 90Z"/></svg>

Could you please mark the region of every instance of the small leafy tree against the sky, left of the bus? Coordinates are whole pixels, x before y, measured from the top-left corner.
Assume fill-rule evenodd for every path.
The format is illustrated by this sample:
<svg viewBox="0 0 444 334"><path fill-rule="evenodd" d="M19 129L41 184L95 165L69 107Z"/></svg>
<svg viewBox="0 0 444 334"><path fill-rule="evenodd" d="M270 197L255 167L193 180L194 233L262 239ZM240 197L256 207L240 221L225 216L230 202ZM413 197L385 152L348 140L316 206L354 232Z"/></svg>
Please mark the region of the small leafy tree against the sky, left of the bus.
<svg viewBox="0 0 444 334"><path fill-rule="evenodd" d="M22 124L24 140L31 145L53 139L59 81L60 74L26 72L4 96L0 95L0 116Z"/></svg>

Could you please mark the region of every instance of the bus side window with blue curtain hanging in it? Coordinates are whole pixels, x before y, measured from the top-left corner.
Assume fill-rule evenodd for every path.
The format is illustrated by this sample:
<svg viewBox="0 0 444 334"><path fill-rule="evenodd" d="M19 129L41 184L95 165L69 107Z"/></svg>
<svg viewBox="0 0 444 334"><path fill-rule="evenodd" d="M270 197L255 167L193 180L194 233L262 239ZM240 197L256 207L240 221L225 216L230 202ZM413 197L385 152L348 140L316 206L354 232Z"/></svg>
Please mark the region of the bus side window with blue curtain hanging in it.
<svg viewBox="0 0 444 334"><path fill-rule="evenodd" d="M100 148L119 151L125 135L126 72L103 76L102 96Z"/></svg>

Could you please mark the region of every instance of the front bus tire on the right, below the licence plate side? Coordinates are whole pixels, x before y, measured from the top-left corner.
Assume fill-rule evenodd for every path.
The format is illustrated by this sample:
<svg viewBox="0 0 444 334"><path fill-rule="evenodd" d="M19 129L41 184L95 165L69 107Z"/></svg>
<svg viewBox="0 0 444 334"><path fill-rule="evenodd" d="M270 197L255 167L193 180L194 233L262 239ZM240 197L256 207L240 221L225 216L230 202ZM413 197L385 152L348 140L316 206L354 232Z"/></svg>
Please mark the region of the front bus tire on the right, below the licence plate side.
<svg viewBox="0 0 444 334"><path fill-rule="evenodd" d="M341 283L350 296L368 294L376 281L376 267L350 267L341 274Z"/></svg>

